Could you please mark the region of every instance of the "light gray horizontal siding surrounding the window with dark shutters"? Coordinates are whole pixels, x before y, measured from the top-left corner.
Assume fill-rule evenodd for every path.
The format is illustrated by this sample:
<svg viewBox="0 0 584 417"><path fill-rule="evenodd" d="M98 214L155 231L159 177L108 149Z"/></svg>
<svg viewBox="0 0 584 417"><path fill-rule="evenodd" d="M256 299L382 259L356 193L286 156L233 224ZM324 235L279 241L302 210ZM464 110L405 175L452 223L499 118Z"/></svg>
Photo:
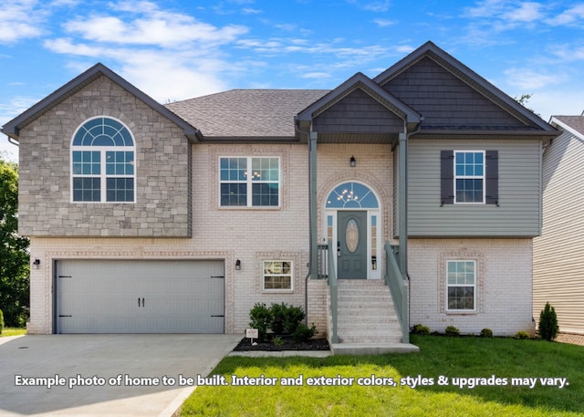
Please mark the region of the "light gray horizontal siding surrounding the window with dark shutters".
<svg viewBox="0 0 584 417"><path fill-rule="evenodd" d="M498 151L499 207L444 204L440 198L440 151ZM411 140L408 227L411 236L533 237L540 229L538 140Z"/></svg>

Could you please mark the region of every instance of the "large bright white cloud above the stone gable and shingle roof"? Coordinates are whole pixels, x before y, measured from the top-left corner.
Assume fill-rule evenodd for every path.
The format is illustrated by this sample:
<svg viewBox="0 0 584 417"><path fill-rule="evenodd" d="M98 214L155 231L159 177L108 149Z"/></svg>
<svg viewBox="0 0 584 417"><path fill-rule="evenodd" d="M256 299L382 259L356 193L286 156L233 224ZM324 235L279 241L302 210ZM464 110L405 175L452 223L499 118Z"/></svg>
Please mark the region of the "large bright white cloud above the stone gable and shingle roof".
<svg viewBox="0 0 584 417"><path fill-rule="evenodd" d="M160 102L228 88L224 79L235 66L220 47L247 31L213 26L150 1L111 3L109 11L76 17L64 28L76 37L47 39L47 49L74 57L76 68L99 60Z"/></svg>

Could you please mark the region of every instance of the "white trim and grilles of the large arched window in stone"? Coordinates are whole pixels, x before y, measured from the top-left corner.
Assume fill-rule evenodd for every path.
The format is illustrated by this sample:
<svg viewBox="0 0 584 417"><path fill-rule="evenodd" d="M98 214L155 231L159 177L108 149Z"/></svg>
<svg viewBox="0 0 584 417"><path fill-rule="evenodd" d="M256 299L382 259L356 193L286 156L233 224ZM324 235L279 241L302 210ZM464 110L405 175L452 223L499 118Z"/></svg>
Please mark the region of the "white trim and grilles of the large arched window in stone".
<svg viewBox="0 0 584 417"><path fill-rule="evenodd" d="M89 120L94 119L101 119L107 118L111 120L118 121L126 130L130 132L131 139L134 142L134 146L78 146L73 145L73 140L77 135L79 129L81 129ZM99 151L100 153L100 161L99 161L99 175L94 174L74 174L73 173L73 152L74 151ZM134 173L133 175L107 175L106 174L106 152L107 151L132 151L134 152ZM70 146L69 146L69 190L70 190L70 202L74 204L135 204L136 203L136 183L138 178L138 164L136 163L136 138L132 134L130 128L121 120L116 119L111 116L100 115L96 117L89 118L88 120L84 120L81 124L79 124L78 128L73 132L73 136L71 137ZM99 177L99 202L88 202L88 201L76 201L73 199L73 178L97 178ZM108 199L108 187L107 187L107 179L108 178L133 178L134 179L134 195L132 201L130 202L109 202Z"/></svg>

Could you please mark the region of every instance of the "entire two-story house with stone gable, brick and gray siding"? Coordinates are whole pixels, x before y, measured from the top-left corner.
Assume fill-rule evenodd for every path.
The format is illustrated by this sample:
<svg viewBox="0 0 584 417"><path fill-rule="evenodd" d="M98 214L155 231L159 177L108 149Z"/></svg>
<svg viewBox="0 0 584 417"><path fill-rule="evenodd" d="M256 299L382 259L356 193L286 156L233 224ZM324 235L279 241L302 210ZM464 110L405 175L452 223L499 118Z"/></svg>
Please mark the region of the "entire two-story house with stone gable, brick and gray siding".
<svg viewBox="0 0 584 417"><path fill-rule="evenodd" d="M98 64L3 131L30 333L240 333L256 302L345 343L533 330L558 132L431 42L331 91L166 106Z"/></svg>

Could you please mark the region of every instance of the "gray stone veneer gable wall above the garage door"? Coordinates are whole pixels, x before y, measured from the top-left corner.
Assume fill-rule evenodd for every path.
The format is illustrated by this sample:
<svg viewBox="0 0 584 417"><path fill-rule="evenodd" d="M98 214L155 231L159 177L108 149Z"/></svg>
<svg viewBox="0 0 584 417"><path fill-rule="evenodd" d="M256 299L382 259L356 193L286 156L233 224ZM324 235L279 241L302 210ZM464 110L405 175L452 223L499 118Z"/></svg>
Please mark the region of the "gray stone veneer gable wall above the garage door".
<svg viewBox="0 0 584 417"><path fill-rule="evenodd" d="M122 121L134 137L136 203L71 203L71 139L96 116ZM188 237L190 151L183 130L100 77L20 132L19 233Z"/></svg>

